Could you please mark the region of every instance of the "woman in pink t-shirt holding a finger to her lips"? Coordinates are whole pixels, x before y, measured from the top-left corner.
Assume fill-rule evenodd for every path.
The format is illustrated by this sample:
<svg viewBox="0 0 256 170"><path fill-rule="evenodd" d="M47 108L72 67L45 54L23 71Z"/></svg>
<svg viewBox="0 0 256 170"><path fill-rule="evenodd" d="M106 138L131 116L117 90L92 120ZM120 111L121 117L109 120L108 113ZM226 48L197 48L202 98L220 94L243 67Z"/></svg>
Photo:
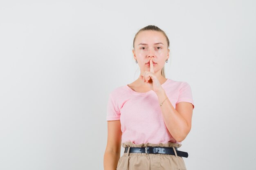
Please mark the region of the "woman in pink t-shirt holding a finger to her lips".
<svg viewBox="0 0 256 170"><path fill-rule="evenodd" d="M132 53L140 76L110 93L104 170L186 170L182 157L188 153L178 148L191 130L194 104L188 83L164 75L168 47L157 26L135 35Z"/></svg>

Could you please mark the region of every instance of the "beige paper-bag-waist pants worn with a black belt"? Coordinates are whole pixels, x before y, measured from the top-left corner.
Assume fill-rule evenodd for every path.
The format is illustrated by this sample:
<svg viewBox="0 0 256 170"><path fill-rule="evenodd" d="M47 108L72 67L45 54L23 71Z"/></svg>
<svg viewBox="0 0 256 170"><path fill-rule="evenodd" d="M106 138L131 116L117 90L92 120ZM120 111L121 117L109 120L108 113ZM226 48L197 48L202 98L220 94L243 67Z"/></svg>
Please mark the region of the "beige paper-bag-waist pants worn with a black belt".
<svg viewBox="0 0 256 170"><path fill-rule="evenodd" d="M182 144L168 142L167 144L133 144L126 142L121 144L125 147L172 147L175 155L168 154L147 154L147 153L124 153L117 164L117 170L186 170L186 166L182 157L177 156L174 147L179 148ZM179 149L178 149L179 150Z"/></svg>

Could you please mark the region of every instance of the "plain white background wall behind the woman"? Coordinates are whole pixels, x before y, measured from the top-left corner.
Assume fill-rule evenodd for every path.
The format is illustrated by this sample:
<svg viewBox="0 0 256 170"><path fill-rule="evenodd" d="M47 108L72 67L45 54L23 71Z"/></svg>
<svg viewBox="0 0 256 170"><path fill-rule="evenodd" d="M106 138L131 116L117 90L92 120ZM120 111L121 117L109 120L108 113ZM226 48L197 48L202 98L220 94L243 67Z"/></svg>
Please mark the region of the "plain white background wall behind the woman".
<svg viewBox="0 0 256 170"><path fill-rule="evenodd" d="M170 40L166 77L192 89L187 169L255 170L255 9L254 0L2 0L0 169L103 170L108 95L138 78L132 41L153 24Z"/></svg>

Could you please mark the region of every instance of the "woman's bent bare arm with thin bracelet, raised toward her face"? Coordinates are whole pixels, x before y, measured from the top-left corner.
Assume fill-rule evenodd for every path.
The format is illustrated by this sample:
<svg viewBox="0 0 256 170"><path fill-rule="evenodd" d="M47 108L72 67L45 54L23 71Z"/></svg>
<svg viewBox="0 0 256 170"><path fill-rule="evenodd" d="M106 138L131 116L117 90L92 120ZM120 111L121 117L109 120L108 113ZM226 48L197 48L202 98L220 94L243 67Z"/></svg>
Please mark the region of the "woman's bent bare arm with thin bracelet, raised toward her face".
<svg viewBox="0 0 256 170"><path fill-rule="evenodd" d="M157 92L157 97L159 104L164 101L167 97L164 89ZM175 109L167 98L160 108L164 123L172 137L178 142L183 141L191 130L193 105L189 102L179 102Z"/></svg>

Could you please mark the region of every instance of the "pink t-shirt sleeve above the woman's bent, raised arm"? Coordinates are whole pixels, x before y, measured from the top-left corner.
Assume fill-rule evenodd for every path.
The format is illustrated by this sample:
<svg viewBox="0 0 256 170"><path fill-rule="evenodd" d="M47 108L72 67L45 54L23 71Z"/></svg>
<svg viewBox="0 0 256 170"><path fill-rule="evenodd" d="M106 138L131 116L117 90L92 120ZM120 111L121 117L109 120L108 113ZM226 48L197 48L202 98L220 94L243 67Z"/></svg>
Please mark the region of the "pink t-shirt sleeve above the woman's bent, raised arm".
<svg viewBox="0 0 256 170"><path fill-rule="evenodd" d="M192 97L192 92L191 92L191 87L187 82L184 82L184 85L180 89L180 95L178 97L176 104L179 102L189 102L193 105L193 109L195 108L194 102L193 102L193 97Z"/></svg>

